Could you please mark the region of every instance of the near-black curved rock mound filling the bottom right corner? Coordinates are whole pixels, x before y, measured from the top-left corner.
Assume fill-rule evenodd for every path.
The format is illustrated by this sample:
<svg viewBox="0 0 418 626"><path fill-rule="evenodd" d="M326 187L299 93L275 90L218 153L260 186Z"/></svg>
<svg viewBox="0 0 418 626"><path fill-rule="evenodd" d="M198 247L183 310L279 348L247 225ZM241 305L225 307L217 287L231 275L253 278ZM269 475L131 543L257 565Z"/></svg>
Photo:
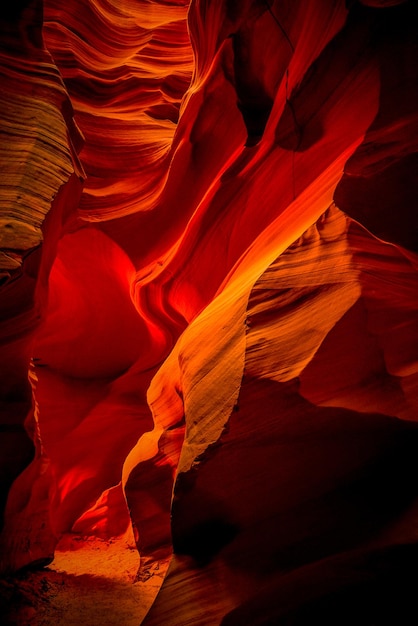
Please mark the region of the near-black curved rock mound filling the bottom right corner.
<svg viewBox="0 0 418 626"><path fill-rule="evenodd" d="M276 578L222 626L413 626L418 546L342 554Z"/></svg>

